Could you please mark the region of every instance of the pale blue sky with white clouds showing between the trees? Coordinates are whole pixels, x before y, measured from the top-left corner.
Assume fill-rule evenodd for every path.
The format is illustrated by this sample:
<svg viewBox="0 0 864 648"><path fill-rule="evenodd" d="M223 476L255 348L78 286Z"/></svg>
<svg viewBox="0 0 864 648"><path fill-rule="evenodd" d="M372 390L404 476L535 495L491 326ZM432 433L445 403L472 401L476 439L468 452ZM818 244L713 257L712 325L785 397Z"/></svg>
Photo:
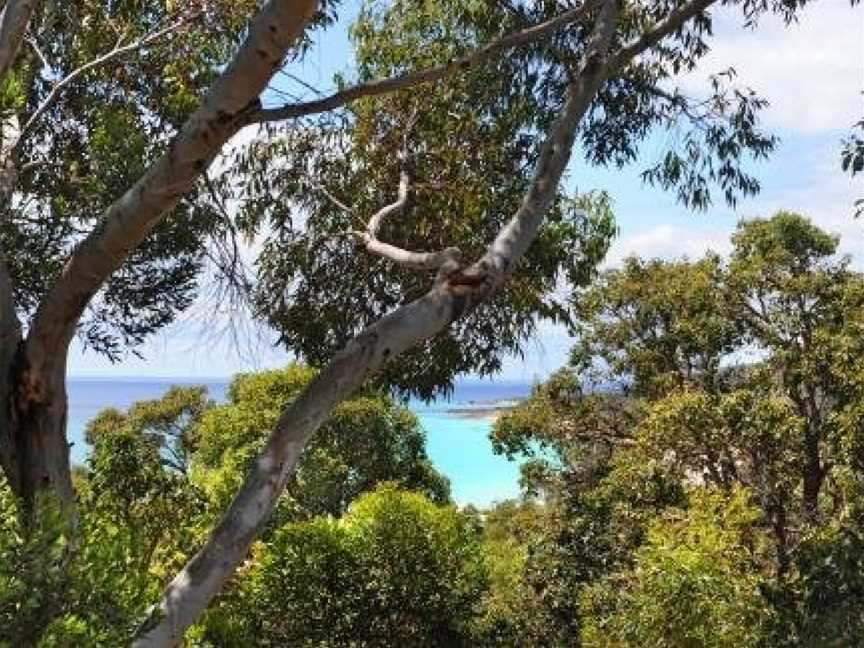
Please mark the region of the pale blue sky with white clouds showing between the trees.
<svg viewBox="0 0 864 648"><path fill-rule="evenodd" d="M348 12L357 6L357 0L343 5ZM712 52L698 74L680 83L699 94L708 74L732 66L739 83L769 99L763 124L781 142L770 160L755 167L762 191L736 210L718 203L705 213L693 213L675 204L671 195L643 185L639 179L643 167L592 169L576 158L569 169L570 187L605 189L615 201L620 236L607 265L614 266L629 254L677 258L698 256L708 249L724 252L739 219L786 208L840 234L842 250L864 268L864 222L852 219L852 203L864 195L864 181L839 172L840 140L864 115L864 6L851 9L848 0L819 0L810 4L797 25L785 27L769 18L753 32L743 30L740 23L724 9L716 23ZM336 71L351 74L341 28L324 34L295 73L326 90L332 87ZM653 138L643 151L644 159L655 159L663 145L662 137ZM111 365L76 347L69 359L70 375L216 377L289 360L272 347L265 330L250 328L239 345L229 337L212 335L209 316L209 311L193 308L142 349L143 360L130 358ZM542 377L564 362L568 348L562 330L543 326L528 345L524 360L505 363L502 378Z"/></svg>

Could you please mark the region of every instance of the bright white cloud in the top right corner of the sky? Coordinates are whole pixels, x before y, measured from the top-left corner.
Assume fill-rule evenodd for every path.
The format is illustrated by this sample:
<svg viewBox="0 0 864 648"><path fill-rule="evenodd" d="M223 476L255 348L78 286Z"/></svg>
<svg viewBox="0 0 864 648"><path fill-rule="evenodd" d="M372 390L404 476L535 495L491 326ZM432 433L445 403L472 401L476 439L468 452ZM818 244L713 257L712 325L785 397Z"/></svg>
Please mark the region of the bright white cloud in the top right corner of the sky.
<svg viewBox="0 0 864 648"><path fill-rule="evenodd" d="M742 28L740 9L718 13L712 51L698 72L681 79L704 92L708 73L734 67L738 81L771 102L765 123L818 132L849 128L864 114L864 6L848 0L812 2L797 24L765 16L757 29Z"/></svg>

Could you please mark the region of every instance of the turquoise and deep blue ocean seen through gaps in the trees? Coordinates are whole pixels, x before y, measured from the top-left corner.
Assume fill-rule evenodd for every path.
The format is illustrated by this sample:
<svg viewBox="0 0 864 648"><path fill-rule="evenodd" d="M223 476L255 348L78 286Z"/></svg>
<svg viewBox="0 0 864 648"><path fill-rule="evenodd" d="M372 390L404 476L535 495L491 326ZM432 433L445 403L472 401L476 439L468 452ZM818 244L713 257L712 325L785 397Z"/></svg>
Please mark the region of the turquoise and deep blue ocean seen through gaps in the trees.
<svg viewBox="0 0 864 648"><path fill-rule="evenodd" d="M87 456L84 427L106 407L125 409L138 400L159 398L171 385L205 385L210 398L225 399L227 380L78 378L69 391L69 441L73 463ZM450 479L453 499L460 505L489 506L519 493L519 465L492 452L492 419L451 410L483 409L492 403L527 396L531 386L512 382L462 382L450 399L411 402L426 431L426 448L435 466Z"/></svg>

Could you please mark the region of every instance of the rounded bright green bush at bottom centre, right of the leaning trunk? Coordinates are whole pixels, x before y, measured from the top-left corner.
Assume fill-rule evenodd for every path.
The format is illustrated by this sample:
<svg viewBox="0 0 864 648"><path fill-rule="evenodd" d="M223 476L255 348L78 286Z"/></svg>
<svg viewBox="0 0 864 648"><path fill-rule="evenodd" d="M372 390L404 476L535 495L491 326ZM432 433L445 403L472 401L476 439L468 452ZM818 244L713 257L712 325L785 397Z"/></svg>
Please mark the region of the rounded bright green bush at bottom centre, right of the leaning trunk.
<svg viewBox="0 0 864 648"><path fill-rule="evenodd" d="M390 483L339 520L280 527L210 634L238 646L470 645L485 579L470 519Z"/></svg>

